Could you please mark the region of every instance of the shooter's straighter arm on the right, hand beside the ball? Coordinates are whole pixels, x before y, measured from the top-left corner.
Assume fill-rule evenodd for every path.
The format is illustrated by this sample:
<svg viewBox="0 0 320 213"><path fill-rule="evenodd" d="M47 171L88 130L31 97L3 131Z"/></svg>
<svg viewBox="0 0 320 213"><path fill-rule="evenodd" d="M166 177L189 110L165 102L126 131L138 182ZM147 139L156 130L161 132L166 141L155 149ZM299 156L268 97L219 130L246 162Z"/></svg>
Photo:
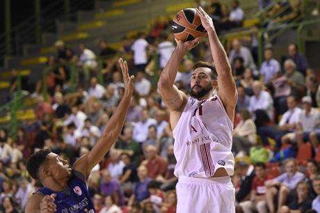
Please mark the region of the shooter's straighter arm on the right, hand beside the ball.
<svg viewBox="0 0 320 213"><path fill-rule="evenodd" d="M223 49L223 45L221 45L216 35L211 17L201 7L196 8L196 10L200 16L202 26L208 33L211 54L218 74L218 95L221 97L227 115L233 121L234 109L237 104L237 88L232 77L231 66L225 49Z"/></svg>

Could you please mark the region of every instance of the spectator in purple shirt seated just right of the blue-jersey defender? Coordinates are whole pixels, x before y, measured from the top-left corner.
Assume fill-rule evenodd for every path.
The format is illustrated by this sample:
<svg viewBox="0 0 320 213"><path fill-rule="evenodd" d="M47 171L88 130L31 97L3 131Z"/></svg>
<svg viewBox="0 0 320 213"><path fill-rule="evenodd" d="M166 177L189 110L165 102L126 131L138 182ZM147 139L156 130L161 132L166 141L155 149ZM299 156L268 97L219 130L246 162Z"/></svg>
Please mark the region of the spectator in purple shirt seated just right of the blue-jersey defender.
<svg viewBox="0 0 320 213"><path fill-rule="evenodd" d="M124 204L120 184L118 183L118 181L111 179L111 174L107 169L102 171L100 191L102 196L112 196L114 199L115 205Z"/></svg>

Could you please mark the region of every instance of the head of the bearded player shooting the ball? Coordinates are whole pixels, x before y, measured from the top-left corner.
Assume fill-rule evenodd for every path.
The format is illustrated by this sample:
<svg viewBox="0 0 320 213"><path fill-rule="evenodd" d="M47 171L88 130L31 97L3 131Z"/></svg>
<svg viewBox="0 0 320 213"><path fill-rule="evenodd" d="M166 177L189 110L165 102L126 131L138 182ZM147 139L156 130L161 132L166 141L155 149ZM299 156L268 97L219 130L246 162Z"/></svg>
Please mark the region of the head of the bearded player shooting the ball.
<svg viewBox="0 0 320 213"><path fill-rule="evenodd" d="M191 72L191 96L202 99L217 88L216 69L211 63L199 61L193 65Z"/></svg>

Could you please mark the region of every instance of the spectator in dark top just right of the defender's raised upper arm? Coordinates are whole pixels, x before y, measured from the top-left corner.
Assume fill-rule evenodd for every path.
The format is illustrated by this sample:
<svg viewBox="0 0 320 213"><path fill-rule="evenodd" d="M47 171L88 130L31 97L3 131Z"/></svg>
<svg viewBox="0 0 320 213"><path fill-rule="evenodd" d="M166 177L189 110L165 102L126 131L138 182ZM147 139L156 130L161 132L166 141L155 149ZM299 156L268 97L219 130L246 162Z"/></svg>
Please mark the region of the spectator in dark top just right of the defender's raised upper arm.
<svg viewBox="0 0 320 213"><path fill-rule="evenodd" d="M125 127L123 134L119 136L120 140L115 144L115 148L122 152L127 153L132 157L135 166L138 166L140 161L140 145L132 138L131 127Z"/></svg>

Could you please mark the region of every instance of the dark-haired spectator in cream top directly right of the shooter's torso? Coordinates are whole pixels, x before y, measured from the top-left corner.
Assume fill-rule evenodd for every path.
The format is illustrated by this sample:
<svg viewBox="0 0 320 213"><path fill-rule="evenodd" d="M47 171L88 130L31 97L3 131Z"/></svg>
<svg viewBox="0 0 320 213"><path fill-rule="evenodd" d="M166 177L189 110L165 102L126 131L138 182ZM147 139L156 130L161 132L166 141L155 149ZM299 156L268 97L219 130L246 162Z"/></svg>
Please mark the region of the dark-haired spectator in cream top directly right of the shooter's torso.
<svg viewBox="0 0 320 213"><path fill-rule="evenodd" d="M235 154L245 152L248 156L250 147L257 143L257 129L248 110L241 110L240 115L241 121L234 128L232 136L232 150Z"/></svg>

